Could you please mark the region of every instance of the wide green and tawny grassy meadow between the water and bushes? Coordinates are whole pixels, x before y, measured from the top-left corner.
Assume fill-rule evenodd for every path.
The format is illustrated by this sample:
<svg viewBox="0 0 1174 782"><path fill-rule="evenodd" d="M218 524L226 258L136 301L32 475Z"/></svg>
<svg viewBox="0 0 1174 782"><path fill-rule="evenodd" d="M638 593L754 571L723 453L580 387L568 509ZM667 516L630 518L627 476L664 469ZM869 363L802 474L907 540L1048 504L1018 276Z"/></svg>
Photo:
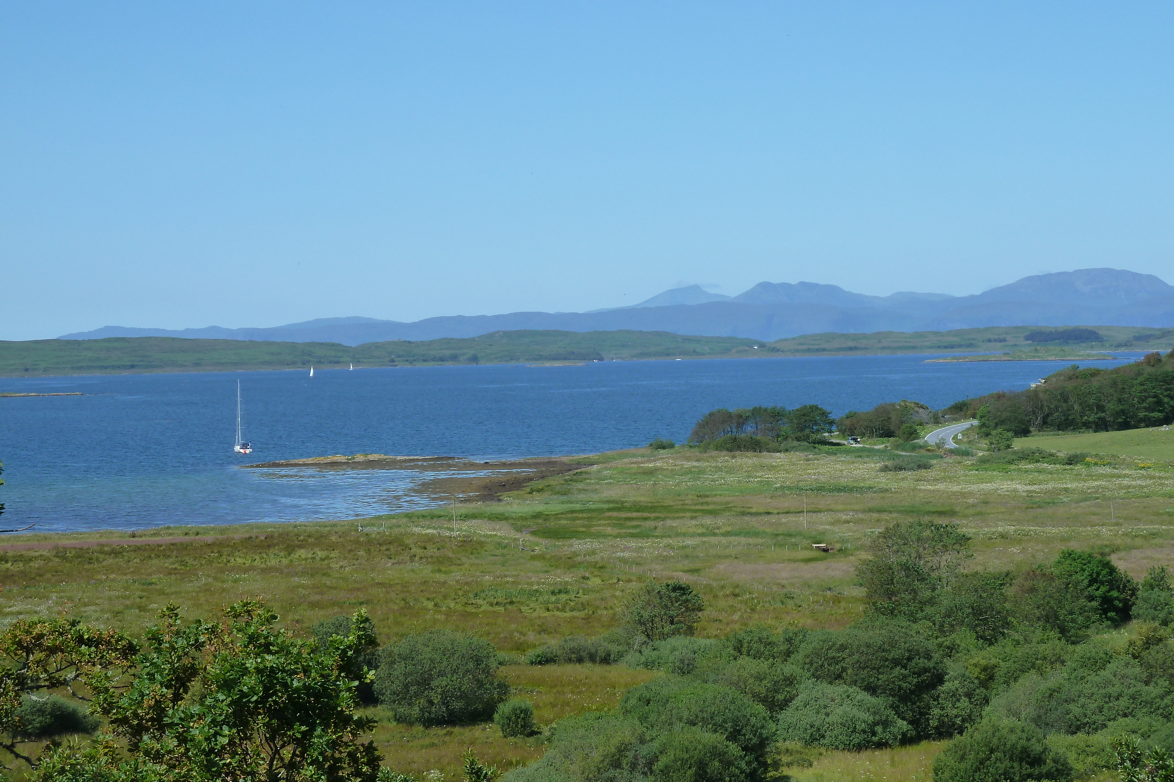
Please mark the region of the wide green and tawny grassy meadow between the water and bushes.
<svg viewBox="0 0 1174 782"><path fill-rule="evenodd" d="M1045 440L1024 444L1060 447ZM1078 449L1094 450L1082 442L1064 448ZM958 523L974 539L974 567L1026 567L1070 546L1109 552L1138 578L1169 563L1174 454L1095 450L1122 455L1074 467L931 456L929 470L880 472L885 454L863 448L637 449L585 457L585 469L501 502L459 504L456 530L450 506L364 522L363 532L355 522L173 526L137 538L191 539L0 551L0 605L6 623L66 613L135 634L168 603L189 618L211 618L222 605L261 597L299 634L362 606L382 642L430 627L488 639L512 655L502 675L534 702L537 720L551 723L610 708L656 674L620 665L532 667L520 655L616 626L625 598L648 579L687 579L706 600L699 634L718 637L758 621L843 627L858 619L852 569L865 542L915 517ZM128 533L19 543L103 537ZM385 762L418 775L438 769L458 778L466 747L502 768L544 752L539 739L502 739L487 725L424 729L393 725L379 708L372 714L382 718L376 739ZM929 780L940 747L822 752L783 770L802 782Z"/></svg>

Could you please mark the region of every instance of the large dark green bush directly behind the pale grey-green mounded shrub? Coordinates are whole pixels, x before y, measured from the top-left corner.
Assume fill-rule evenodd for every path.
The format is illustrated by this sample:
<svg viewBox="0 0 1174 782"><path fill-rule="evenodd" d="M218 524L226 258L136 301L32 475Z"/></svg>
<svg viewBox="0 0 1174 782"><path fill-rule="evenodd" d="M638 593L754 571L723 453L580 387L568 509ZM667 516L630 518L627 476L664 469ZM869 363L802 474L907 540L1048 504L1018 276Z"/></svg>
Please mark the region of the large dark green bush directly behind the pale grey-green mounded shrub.
<svg viewBox="0 0 1174 782"><path fill-rule="evenodd" d="M819 681L884 698L918 735L929 734L930 694L946 674L933 642L899 623L814 632L795 664Z"/></svg>

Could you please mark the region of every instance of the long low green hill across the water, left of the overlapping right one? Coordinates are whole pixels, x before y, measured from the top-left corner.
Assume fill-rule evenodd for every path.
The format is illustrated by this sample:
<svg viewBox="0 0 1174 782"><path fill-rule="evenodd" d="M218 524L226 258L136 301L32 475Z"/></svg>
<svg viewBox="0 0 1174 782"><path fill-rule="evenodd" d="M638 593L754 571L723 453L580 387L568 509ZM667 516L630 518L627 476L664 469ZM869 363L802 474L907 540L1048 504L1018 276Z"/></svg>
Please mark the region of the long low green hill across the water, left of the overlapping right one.
<svg viewBox="0 0 1174 782"><path fill-rule="evenodd" d="M758 346L758 347L755 347ZM549 363L610 359L734 358L771 354L757 340L667 332L494 332L468 339L336 342L116 336L0 341L0 376L216 372L461 363Z"/></svg>

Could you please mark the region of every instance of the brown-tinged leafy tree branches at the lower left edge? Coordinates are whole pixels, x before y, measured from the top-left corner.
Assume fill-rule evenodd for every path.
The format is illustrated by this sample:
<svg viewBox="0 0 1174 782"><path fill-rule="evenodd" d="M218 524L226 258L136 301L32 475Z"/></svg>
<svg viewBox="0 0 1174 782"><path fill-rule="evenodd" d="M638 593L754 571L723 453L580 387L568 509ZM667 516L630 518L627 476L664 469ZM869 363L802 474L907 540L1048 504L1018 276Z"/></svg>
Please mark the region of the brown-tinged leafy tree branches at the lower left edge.
<svg viewBox="0 0 1174 782"><path fill-rule="evenodd" d="M137 646L126 635L83 625L76 619L18 619L0 634L0 747L29 766L20 750L25 739L40 737L49 726L29 695L67 689L87 676L129 667ZM36 725L34 722L41 722Z"/></svg>

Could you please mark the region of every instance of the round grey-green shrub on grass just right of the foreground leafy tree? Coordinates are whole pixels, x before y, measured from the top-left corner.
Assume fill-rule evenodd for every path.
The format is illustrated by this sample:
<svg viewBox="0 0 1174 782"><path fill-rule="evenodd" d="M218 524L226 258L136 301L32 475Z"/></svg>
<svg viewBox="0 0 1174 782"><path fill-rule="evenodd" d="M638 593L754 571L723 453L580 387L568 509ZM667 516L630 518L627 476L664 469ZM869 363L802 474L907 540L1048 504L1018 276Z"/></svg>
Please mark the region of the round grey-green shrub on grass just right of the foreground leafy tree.
<svg viewBox="0 0 1174 782"><path fill-rule="evenodd" d="M431 727L486 719L510 692L495 675L498 662L488 641L430 630L384 647L375 692L397 722Z"/></svg>

